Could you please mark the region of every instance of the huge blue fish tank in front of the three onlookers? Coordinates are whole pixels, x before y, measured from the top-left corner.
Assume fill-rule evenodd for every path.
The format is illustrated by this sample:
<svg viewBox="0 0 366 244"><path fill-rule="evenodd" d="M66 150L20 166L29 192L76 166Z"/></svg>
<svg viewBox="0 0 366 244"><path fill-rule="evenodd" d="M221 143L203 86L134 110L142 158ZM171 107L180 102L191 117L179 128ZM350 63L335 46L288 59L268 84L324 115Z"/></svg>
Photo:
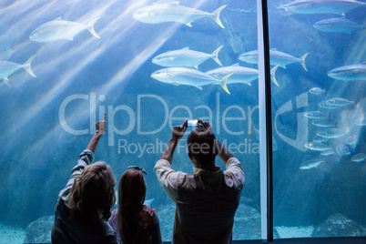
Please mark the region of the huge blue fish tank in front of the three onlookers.
<svg viewBox="0 0 366 244"><path fill-rule="evenodd" d="M175 203L153 168L171 128L197 117L242 163L234 240L267 239L269 191L274 239L365 237L366 3L272 0L263 28L261 2L1 1L0 243L50 243L58 193L105 112L96 160L117 180L145 168L163 241ZM191 130L172 163L189 174Z"/></svg>

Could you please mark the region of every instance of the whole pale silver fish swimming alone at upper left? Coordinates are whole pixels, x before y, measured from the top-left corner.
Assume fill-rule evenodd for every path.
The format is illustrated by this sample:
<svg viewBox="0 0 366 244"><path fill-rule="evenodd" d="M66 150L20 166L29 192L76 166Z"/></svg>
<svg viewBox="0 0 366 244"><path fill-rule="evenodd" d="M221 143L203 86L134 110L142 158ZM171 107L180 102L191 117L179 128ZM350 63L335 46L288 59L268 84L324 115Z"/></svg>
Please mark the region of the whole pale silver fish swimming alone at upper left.
<svg viewBox="0 0 366 244"><path fill-rule="evenodd" d="M57 18L56 20L37 27L29 36L29 39L41 43L53 42L61 39L74 40L74 36L85 29L93 36L100 38L94 30L94 24L96 24L99 18L100 17L92 19L87 25Z"/></svg>

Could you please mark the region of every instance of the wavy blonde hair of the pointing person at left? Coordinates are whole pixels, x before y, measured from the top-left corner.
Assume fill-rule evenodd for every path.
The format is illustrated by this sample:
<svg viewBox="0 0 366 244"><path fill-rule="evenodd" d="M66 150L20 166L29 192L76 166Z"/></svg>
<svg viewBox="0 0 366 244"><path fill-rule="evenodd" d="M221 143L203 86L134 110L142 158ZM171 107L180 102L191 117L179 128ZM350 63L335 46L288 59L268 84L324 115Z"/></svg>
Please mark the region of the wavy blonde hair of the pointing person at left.
<svg viewBox="0 0 366 244"><path fill-rule="evenodd" d="M112 168L105 162L98 161L84 168L71 189L70 219L86 226L97 226L100 220L109 219L116 202L115 185Z"/></svg>

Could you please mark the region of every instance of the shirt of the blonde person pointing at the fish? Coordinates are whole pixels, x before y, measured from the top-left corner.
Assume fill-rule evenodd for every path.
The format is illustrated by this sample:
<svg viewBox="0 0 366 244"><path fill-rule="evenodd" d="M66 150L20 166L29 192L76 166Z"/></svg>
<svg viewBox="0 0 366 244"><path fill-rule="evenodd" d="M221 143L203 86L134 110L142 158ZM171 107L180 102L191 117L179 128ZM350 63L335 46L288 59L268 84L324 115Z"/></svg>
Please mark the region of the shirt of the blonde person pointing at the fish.
<svg viewBox="0 0 366 244"><path fill-rule="evenodd" d="M115 231L105 221L100 220L100 225L97 227L85 227L69 219L71 213L66 202L70 198L74 180L93 162L93 159L94 153L90 150L84 150L80 154L76 167L71 170L71 177L66 187L58 195L55 222L51 232L52 243L119 243Z"/></svg>

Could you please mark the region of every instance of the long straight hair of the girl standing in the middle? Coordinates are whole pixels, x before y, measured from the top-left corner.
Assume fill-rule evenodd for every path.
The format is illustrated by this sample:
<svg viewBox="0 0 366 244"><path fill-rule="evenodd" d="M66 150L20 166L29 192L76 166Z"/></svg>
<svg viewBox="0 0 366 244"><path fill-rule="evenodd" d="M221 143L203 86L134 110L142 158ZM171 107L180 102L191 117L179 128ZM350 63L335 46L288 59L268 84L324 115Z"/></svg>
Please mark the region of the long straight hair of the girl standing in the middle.
<svg viewBox="0 0 366 244"><path fill-rule="evenodd" d="M137 214L142 210L147 185L141 171L128 169L118 182L118 231L123 243L132 243L137 231Z"/></svg>

